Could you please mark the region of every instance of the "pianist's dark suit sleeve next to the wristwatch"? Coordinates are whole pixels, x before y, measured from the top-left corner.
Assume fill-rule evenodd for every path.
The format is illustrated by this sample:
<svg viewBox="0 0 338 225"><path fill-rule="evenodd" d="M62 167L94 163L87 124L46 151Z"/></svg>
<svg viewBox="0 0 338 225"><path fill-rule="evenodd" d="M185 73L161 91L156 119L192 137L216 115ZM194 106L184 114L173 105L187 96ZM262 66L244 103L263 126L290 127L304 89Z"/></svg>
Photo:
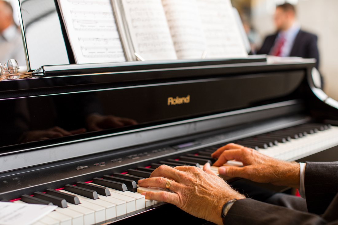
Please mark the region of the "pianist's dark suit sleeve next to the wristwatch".
<svg viewBox="0 0 338 225"><path fill-rule="evenodd" d="M328 224L318 215L271 205L253 199L241 199L234 203L225 217L224 224Z"/></svg>

